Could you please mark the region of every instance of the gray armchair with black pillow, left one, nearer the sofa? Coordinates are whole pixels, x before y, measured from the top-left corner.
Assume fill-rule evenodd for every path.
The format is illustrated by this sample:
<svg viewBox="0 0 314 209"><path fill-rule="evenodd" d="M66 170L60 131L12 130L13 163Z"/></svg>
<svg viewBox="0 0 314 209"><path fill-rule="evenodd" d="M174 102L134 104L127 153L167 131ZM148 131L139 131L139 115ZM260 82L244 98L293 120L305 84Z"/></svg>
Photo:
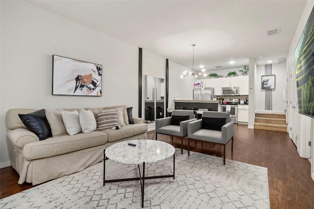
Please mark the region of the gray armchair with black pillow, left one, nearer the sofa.
<svg viewBox="0 0 314 209"><path fill-rule="evenodd" d="M182 121L183 117L180 116L185 116L184 121ZM192 110L172 110L171 117L160 118L155 121L156 140L157 133L170 135L172 136L172 140L173 136L180 136L181 154L183 154L183 137L187 135L187 124L194 120L196 119Z"/></svg>

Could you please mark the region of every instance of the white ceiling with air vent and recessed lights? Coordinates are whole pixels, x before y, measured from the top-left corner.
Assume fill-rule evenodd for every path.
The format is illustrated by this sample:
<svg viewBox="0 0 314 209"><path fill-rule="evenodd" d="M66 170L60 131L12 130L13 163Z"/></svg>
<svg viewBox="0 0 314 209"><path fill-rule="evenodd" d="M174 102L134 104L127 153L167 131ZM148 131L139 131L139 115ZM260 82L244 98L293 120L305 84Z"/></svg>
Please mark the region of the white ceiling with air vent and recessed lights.
<svg viewBox="0 0 314 209"><path fill-rule="evenodd" d="M194 69L286 59L304 0L28 0L65 18ZM267 30L280 28L277 35ZM234 61L234 64L230 64ZM216 68L222 66L221 68Z"/></svg>

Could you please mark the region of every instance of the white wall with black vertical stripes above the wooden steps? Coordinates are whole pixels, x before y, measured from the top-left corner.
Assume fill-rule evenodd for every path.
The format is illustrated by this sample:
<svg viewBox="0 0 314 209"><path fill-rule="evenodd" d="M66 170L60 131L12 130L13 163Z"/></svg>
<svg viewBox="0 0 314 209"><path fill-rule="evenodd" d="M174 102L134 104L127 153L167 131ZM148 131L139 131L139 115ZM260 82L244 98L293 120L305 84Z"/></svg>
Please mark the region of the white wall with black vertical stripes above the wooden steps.
<svg viewBox="0 0 314 209"><path fill-rule="evenodd" d="M275 75L275 89L272 91L272 110L284 111L286 102L284 102L284 89L287 89L287 62L282 61L278 64L272 64L272 74ZM256 110L265 109L265 90L262 89L262 76L265 75L265 65L257 66L255 83L255 108Z"/></svg>

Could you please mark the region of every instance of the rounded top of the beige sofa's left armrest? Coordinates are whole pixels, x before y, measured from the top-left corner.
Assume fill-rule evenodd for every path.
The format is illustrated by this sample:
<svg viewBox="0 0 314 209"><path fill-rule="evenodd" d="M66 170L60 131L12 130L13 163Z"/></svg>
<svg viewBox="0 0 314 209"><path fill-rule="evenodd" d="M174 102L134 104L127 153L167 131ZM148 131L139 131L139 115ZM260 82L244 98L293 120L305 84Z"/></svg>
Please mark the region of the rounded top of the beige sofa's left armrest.
<svg viewBox="0 0 314 209"><path fill-rule="evenodd" d="M24 145L28 143L39 141L35 133L23 128L7 131L6 137L10 140L12 145L22 149L24 148Z"/></svg>

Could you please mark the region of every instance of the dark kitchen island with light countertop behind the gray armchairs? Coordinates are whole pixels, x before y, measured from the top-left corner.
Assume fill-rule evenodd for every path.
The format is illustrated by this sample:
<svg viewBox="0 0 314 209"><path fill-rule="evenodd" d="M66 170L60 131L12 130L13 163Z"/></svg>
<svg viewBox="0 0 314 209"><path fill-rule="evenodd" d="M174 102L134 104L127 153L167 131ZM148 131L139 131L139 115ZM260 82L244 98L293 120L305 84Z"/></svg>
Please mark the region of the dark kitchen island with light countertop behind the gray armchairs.
<svg viewBox="0 0 314 209"><path fill-rule="evenodd" d="M209 111L218 111L217 100L174 100L175 109L208 109Z"/></svg>

